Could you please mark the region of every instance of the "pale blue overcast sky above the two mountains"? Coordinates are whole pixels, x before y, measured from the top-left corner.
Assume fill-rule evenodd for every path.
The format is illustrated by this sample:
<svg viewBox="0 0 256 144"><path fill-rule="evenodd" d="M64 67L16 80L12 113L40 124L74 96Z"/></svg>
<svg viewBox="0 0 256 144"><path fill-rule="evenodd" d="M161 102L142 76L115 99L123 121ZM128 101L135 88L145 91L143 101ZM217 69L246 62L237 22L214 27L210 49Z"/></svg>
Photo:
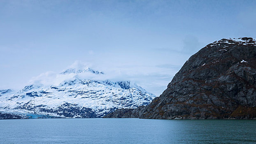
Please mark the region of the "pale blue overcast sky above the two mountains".
<svg viewBox="0 0 256 144"><path fill-rule="evenodd" d="M75 61L159 96L185 61L222 38L256 38L255 0L1 0L0 89Z"/></svg>

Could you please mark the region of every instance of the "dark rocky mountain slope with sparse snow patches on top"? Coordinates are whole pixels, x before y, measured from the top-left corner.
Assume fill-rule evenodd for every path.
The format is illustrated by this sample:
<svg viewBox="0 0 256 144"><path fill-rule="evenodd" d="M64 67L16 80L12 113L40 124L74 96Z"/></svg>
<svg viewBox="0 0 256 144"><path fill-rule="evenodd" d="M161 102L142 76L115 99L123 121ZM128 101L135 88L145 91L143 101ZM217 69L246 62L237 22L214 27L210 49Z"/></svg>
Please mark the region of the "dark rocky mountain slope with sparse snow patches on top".
<svg viewBox="0 0 256 144"><path fill-rule="evenodd" d="M256 118L256 42L221 39L186 61L149 105L106 118Z"/></svg>

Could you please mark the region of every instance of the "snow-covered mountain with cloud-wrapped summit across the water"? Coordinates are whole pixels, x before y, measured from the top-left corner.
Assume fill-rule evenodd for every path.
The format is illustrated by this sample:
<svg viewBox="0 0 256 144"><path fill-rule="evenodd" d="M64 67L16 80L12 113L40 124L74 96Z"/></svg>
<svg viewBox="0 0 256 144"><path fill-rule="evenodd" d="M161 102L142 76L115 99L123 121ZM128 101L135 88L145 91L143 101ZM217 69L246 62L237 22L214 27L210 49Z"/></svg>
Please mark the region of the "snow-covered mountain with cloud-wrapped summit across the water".
<svg viewBox="0 0 256 144"><path fill-rule="evenodd" d="M148 105L156 97L135 83L104 80L104 75L88 67L69 68L54 75L55 84L44 84L47 78L41 77L20 91L0 90L0 115L98 118L116 109Z"/></svg>

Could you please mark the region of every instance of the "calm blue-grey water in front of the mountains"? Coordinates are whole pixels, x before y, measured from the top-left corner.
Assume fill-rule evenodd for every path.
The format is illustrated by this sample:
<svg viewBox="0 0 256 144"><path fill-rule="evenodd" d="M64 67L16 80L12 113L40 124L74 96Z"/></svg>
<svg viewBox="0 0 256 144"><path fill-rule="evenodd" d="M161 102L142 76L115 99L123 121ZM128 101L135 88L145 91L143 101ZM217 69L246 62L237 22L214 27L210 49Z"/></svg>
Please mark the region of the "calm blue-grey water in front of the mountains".
<svg viewBox="0 0 256 144"><path fill-rule="evenodd" d="M0 120L1 144L256 143L256 120Z"/></svg>

